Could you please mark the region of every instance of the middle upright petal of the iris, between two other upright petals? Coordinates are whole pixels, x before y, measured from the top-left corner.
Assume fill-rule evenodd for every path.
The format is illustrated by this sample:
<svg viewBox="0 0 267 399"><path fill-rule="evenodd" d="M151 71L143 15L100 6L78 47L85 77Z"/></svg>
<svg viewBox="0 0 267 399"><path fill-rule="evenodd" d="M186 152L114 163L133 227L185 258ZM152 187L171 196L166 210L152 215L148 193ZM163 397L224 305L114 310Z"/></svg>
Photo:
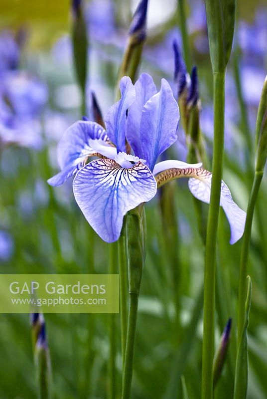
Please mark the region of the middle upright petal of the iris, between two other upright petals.
<svg viewBox="0 0 267 399"><path fill-rule="evenodd" d="M126 137L134 154L141 157L142 144L140 140L140 122L145 103L157 92L153 79L147 73L142 73L134 84L135 100L129 108L126 122Z"/></svg>

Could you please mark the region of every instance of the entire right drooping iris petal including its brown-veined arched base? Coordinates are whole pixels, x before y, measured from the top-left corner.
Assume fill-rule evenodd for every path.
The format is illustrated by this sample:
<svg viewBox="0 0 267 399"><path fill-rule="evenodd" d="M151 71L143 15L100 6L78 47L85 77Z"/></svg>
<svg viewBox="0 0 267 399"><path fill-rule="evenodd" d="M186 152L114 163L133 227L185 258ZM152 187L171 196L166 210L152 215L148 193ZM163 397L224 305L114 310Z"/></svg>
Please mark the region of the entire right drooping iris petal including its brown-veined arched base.
<svg viewBox="0 0 267 399"><path fill-rule="evenodd" d="M156 177L157 187L178 178L190 178L189 190L198 200L210 203L212 174L200 168L172 168L160 172ZM230 243L237 242L244 233L246 212L232 199L229 188L222 181L220 205L223 207L231 228Z"/></svg>

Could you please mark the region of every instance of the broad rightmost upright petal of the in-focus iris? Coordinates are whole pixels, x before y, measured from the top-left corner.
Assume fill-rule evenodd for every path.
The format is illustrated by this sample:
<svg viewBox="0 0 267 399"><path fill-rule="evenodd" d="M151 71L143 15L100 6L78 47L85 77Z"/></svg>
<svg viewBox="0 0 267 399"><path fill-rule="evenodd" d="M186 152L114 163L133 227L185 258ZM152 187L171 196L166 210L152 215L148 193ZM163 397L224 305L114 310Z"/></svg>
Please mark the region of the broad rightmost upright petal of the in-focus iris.
<svg viewBox="0 0 267 399"><path fill-rule="evenodd" d="M178 122L178 104L170 85L162 79L160 91L146 102L140 123L142 154L138 156L147 161L150 170L158 156L176 141Z"/></svg>

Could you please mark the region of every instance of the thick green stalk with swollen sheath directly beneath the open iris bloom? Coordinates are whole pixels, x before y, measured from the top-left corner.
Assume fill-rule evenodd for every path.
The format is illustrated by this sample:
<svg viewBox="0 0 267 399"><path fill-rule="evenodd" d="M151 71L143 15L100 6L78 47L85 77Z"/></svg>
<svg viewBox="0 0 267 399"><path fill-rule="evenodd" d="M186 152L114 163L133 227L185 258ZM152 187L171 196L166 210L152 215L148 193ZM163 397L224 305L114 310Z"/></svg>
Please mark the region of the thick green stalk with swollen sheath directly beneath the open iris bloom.
<svg viewBox="0 0 267 399"><path fill-rule="evenodd" d="M137 307L145 258L145 218L143 217L142 205L128 212L126 240L129 273L129 318L122 399L131 398Z"/></svg>

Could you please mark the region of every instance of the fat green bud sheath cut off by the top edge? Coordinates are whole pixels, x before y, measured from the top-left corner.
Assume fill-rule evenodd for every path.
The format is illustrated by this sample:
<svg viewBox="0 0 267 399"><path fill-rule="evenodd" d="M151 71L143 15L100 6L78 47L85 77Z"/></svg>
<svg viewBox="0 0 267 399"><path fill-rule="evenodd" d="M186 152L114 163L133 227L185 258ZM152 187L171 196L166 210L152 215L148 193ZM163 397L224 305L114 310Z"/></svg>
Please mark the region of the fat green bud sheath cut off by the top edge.
<svg viewBox="0 0 267 399"><path fill-rule="evenodd" d="M210 56L213 72L227 66L235 27L235 0L206 0Z"/></svg>

